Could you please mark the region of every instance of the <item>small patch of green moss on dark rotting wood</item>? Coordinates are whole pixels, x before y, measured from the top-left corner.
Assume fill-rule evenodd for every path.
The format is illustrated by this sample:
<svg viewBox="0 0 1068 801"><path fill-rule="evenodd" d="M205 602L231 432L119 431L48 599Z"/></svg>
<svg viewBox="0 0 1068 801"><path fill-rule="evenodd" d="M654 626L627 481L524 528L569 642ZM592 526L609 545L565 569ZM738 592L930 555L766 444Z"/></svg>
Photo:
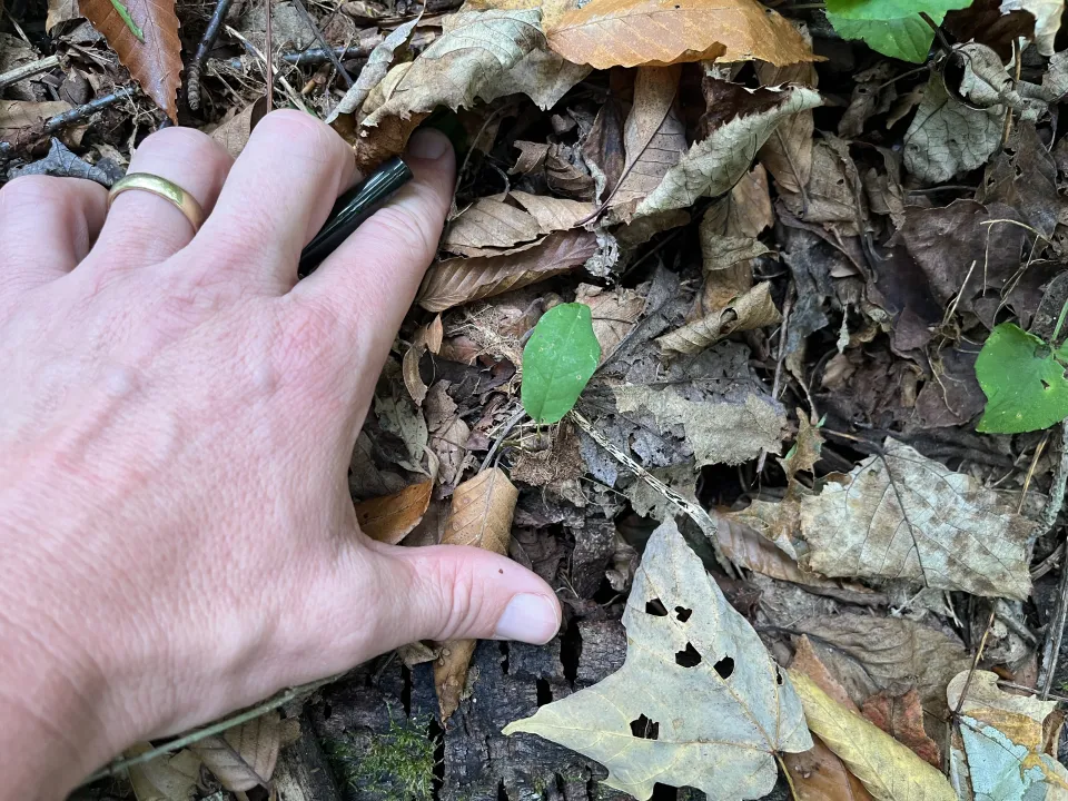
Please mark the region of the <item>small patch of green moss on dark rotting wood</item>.
<svg viewBox="0 0 1068 801"><path fill-rule="evenodd" d="M373 792L384 801L429 801L434 791L434 741L413 723L389 722L389 731L374 734L369 745L348 739L323 743L338 780Z"/></svg>

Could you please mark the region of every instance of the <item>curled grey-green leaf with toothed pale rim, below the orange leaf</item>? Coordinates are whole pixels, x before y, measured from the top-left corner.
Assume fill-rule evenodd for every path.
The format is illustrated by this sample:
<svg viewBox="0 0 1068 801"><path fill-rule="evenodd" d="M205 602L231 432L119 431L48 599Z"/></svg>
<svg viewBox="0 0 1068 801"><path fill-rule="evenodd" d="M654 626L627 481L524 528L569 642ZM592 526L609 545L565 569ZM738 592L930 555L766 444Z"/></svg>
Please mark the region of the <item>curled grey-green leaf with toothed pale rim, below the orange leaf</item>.
<svg viewBox="0 0 1068 801"><path fill-rule="evenodd" d="M723 96L725 99L726 92ZM685 208L703 195L725 194L749 171L756 151L779 122L819 105L819 92L807 87L735 87L731 102L724 102L730 111L718 117L718 127L666 171L635 216Z"/></svg>

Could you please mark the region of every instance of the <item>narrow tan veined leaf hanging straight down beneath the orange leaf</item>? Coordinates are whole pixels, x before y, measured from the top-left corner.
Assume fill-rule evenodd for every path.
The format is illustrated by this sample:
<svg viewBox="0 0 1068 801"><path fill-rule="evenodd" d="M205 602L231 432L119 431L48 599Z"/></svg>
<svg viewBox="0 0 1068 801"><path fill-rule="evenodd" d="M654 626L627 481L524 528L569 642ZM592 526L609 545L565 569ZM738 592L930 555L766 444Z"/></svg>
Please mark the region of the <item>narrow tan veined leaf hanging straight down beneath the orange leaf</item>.
<svg viewBox="0 0 1068 801"><path fill-rule="evenodd" d="M675 98L682 67L642 67L634 79L634 105L623 127L626 161L619 187L609 187L615 216L630 220L634 208L686 151L686 126Z"/></svg>

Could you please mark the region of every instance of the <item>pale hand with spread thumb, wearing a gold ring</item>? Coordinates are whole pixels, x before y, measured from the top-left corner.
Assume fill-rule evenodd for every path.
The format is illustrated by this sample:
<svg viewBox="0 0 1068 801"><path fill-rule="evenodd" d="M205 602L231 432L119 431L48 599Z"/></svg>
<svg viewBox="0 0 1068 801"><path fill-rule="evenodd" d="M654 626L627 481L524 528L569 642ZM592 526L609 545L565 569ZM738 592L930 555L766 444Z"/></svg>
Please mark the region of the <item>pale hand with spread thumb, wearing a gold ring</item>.
<svg viewBox="0 0 1068 801"><path fill-rule="evenodd" d="M347 468L452 197L447 140L309 278L354 179L277 111L237 161L154 134L130 171L0 189L0 799L59 799L129 745L416 640L547 642L552 589L474 548L358 530Z"/></svg>

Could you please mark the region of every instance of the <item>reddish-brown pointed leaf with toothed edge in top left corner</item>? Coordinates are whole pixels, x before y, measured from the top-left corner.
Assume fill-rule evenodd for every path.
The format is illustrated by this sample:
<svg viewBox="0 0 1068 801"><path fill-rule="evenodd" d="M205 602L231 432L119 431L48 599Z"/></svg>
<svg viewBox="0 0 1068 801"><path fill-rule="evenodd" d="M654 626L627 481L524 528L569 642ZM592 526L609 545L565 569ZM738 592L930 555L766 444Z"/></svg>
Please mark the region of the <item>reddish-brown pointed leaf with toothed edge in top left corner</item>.
<svg viewBox="0 0 1068 801"><path fill-rule="evenodd" d="M144 41L129 29L111 0L80 0L79 10L103 34L122 66L167 116L178 121L181 41L175 0L126 0L126 10Z"/></svg>

